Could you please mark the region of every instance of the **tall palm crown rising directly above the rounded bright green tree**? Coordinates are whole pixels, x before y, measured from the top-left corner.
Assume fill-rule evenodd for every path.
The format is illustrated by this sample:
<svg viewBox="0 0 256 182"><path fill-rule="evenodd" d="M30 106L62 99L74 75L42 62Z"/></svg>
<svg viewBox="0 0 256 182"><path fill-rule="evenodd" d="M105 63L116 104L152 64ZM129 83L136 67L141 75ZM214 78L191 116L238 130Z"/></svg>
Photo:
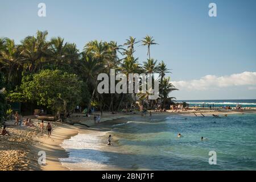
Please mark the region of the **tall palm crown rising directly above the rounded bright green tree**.
<svg viewBox="0 0 256 182"><path fill-rule="evenodd" d="M38 31L35 36L27 36L22 40L20 46L21 55L26 60L25 66L28 67L28 71L35 72L39 69L39 65L43 60L43 57L47 56L48 43L46 42L47 31Z"/></svg>

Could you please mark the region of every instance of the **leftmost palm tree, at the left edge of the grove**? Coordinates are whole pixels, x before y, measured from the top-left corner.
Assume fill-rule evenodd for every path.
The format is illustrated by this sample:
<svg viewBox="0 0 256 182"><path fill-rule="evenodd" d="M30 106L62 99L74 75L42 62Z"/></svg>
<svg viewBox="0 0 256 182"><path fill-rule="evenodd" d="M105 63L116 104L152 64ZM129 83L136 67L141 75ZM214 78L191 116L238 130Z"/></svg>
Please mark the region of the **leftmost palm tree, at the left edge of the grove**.
<svg viewBox="0 0 256 182"><path fill-rule="evenodd" d="M2 68L6 68L7 82L10 83L11 74L14 68L20 64L20 52L17 46L15 46L14 40L6 39L4 48L0 51L0 63L3 65ZM1 68L1 69L2 69Z"/></svg>

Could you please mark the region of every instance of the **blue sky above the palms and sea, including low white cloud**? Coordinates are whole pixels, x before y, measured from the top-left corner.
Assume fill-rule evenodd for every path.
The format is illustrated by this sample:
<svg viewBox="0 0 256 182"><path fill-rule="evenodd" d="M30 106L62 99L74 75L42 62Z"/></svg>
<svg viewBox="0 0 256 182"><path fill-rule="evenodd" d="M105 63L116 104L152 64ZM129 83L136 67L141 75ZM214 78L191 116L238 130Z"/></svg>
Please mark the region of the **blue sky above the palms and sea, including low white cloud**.
<svg viewBox="0 0 256 182"><path fill-rule="evenodd" d="M40 2L46 3L43 18ZM210 2L217 5L217 17L208 16ZM47 30L49 38L61 36L82 49L90 40L123 44L129 36L148 34L159 44L151 47L151 57L172 69L180 89L172 96L178 100L255 99L255 7L254 0L0 0L0 37L19 43ZM141 63L146 53L146 47L136 47Z"/></svg>

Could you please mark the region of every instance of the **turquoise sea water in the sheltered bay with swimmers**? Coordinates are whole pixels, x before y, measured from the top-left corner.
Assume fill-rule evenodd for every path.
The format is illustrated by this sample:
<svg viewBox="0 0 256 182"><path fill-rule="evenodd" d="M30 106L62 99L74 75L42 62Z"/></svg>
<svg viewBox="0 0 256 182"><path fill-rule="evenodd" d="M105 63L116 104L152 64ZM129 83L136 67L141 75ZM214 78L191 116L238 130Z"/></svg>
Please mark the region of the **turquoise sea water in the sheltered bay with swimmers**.
<svg viewBox="0 0 256 182"><path fill-rule="evenodd" d="M184 137L177 138L178 133ZM108 151L69 147L70 160L66 162L86 166L89 159L92 163L133 170L256 169L256 114L230 114L226 118L134 117L121 125L113 125L104 138L108 134L114 138L114 146L104 145ZM208 140L202 142L201 137ZM92 140L95 139L80 135L77 144L82 146L83 141L88 144ZM96 144L100 140L97 139ZM74 145L76 139L71 143ZM209 164L209 151L216 151L216 165Z"/></svg>

